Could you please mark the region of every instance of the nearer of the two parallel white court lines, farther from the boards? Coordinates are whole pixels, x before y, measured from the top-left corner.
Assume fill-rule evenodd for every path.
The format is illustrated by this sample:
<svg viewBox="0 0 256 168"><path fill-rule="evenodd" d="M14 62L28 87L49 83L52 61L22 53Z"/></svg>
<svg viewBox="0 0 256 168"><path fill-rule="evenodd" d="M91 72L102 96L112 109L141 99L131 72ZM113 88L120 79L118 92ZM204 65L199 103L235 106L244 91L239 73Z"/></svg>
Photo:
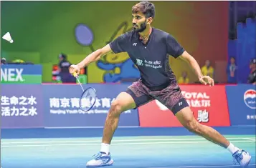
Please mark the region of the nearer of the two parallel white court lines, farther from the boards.
<svg viewBox="0 0 256 168"><path fill-rule="evenodd" d="M230 142L252 142L247 141L230 141ZM118 143L111 145L128 145L128 144L194 144L194 143L212 143L208 141L196 141L196 142L136 142L136 143ZM22 144L22 145L1 145L1 147L54 147L54 146L93 146L99 144Z"/></svg>

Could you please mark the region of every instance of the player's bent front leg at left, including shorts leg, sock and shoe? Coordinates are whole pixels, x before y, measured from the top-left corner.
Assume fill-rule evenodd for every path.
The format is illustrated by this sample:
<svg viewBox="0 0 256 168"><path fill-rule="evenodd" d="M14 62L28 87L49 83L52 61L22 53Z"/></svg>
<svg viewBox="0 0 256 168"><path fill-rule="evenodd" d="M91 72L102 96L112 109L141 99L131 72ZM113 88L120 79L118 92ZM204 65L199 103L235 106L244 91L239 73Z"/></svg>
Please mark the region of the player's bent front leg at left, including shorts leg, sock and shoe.
<svg viewBox="0 0 256 168"><path fill-rule="evenodd" d="M116 97L105 120L100 152L94 156L94 159L87 162L87 167L102 167L113 164L109 148L115 129L118 127L120 114L128 109L140 107L151 100L152 98L148 97L146 90L143 89L139 81L131 85L126 92L122 92Z"/></svg>

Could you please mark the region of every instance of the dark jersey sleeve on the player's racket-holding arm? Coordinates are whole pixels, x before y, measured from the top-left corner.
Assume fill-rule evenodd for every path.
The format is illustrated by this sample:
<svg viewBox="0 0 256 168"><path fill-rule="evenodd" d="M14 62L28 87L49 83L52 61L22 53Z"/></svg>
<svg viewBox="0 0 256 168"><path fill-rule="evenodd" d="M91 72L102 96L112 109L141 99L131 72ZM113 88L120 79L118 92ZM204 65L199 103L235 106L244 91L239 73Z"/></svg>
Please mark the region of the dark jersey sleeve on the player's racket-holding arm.
<svg viewBox="0 0 256 168"><path fill-rule="evenodd" d="M115 54L126 51L127 46L127 34L118 36L114 41L110 42L110 48Z"/></svg>

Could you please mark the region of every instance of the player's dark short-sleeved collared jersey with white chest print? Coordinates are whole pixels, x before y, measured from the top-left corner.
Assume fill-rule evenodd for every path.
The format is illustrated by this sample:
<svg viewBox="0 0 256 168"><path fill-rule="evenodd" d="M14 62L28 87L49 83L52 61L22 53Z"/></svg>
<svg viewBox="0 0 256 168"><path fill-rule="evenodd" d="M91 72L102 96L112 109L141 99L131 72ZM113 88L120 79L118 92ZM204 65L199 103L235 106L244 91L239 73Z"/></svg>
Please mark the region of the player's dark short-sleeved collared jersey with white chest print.
<svg viewBox="0 0 256 168"><path fill-rule="evenodd" d="M152 91L176 82L169 55L177 58L184 48L170 34L153 28L147 43L143 44L136 31L129 31L110 42L110 48L115 54L128 53L141 72L141 81Z"/></svg>

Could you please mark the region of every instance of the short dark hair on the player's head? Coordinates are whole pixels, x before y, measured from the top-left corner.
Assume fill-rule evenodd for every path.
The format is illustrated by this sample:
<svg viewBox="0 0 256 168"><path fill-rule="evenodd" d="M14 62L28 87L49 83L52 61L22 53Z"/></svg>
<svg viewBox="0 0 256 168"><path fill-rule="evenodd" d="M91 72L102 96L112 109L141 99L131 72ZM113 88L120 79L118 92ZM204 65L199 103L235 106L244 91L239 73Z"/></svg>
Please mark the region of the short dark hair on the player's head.
<svg viewBox="0 0 256 168"><path fill-rule="evenodd" d="M137 14L139 11L141 11L146 18L155 17L155 6L149 1L141 1L132 7L133 14Z"/></svg>

